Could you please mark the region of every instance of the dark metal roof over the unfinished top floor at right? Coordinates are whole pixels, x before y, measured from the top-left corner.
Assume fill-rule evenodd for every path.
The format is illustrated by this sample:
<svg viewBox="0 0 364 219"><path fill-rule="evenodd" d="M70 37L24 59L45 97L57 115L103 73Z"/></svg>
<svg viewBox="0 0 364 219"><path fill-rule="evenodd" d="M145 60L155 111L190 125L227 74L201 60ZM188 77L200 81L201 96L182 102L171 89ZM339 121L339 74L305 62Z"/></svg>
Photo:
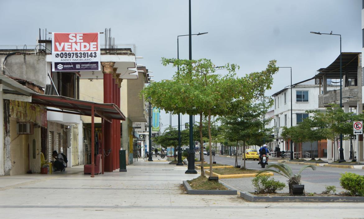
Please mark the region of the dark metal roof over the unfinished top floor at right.
<svg viewBox="0 0 364 219"><path fill-rule="evenodd" d="M349 73L349 78L357 78L359 56L361 52L343 52L341 53L342 75ZM326 75L327 78L340 79L340 55L326 68L320 68L313 78L321 78Z"/></svg>

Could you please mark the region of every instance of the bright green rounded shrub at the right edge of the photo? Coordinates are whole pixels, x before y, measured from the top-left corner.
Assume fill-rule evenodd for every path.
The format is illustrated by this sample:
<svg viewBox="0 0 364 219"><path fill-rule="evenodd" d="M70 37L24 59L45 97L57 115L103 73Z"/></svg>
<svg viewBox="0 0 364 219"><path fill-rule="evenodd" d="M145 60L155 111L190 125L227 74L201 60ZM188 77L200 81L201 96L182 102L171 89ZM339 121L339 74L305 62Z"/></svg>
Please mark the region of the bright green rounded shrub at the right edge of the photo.
<svg viewBox="0 0 364 219"><path fill-rule="evenodd" d="M364 176L346 172L341 174L340 185L352 196L364 196Z"/></svg>

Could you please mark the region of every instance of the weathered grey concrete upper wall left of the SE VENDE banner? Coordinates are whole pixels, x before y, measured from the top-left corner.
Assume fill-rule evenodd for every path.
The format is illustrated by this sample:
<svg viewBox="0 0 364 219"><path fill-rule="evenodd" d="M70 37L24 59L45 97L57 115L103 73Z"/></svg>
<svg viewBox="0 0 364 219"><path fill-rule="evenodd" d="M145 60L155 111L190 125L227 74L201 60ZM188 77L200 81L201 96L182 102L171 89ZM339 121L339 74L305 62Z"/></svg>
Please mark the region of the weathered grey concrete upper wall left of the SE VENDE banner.
<svg viewBox="0 0 364 219"><path fill-rule="evenodd" d="M46 86L47 69L46 55L11 55L3 66L6 55L0 55L1 71L5 75L31 81L41 87Z"/></svg>

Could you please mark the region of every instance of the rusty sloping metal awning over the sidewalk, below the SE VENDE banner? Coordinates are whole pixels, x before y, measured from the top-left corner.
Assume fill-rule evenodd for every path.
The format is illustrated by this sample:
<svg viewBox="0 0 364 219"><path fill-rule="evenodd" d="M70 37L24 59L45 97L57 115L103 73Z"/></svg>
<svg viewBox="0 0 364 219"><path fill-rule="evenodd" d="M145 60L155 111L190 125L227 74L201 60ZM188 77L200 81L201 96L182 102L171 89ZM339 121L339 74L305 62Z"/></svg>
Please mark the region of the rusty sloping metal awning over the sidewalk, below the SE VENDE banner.
<svg viewBox="0 0 364 219"><path fill-rule="evenodd" d="M33 94L32 103L55 107L59 110L47 109L48 111L63 112L68 114L77 114L92 116L92 108L95 110L95 116L101 117L107 121L112 119L125 120L125 116L113 103L94 103L90 101L77 100L65 96Z"/></svg>

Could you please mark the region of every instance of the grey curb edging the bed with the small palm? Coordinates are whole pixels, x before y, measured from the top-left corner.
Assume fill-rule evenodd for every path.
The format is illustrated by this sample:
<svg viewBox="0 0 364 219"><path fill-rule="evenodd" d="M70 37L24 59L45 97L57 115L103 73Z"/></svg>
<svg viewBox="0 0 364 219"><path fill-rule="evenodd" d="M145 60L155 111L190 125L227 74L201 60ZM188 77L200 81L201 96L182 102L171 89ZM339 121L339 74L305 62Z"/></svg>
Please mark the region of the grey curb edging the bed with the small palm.
<svg viewBox="0 0 364 219"><path fill-rule="evenodd" d="M350 196L256 196L240 192L240 197L249 202L364 202L364 197Z"/></svg>

